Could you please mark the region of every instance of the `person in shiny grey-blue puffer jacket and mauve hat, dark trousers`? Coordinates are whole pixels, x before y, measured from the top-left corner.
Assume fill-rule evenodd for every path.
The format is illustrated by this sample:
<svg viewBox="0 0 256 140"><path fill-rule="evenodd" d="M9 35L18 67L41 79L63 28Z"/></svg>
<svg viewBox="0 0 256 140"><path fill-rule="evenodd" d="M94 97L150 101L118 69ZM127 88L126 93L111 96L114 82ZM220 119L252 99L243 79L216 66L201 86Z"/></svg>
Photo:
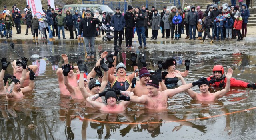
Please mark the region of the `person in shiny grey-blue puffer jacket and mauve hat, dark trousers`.
<svg viewBox="0 0 256 140"><path fill-rule="evenodd" d="M188 12L188 15L186 17L186 23L189 24L189 33L190 37L189 40L193 38L193 40L196 40L196 25L198 23L198 13L195 11L195 6L191 7L191 11ZM193 29L193 33L192 33Z"/></svg>

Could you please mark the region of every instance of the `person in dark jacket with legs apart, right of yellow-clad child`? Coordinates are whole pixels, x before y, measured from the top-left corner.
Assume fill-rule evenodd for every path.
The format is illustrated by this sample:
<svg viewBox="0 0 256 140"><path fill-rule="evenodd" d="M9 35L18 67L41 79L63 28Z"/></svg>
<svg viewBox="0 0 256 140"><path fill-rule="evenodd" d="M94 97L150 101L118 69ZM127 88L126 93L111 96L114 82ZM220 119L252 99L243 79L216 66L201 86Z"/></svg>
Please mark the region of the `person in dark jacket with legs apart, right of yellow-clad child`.
<svg viewBox="0 0 256 140"><path fill-rule="evenodd" d="M210 35L210 25L212 25L212 21L210 19L210 16L207 16L206 13L204 13L204 21L203 21L203 28L204 28L204 37L201 40L201 42L204 42L206 35L211 39L210 43L213 43L212 36Z"/></svg>

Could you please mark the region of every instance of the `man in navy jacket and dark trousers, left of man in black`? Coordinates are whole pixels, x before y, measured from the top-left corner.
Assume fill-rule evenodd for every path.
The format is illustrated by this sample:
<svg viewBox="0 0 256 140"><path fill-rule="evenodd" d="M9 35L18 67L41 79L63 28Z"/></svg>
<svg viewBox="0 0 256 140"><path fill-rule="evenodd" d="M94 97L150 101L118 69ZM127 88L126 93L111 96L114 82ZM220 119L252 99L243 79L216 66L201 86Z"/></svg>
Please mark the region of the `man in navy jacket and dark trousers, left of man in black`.
<svg viewBox="0 0 256 140"><path fill-rule="evenodd" d="M118 39L118 34L119 34L120 39L119 39L118 47L122 48L121 47L121 45L122 45L121 38L123 36L125 20L124 20L124 16L122 15L119 7L116 8L116 13L111 18L111 26L114 27L114 45L117 45L117 39Z"/></svg>

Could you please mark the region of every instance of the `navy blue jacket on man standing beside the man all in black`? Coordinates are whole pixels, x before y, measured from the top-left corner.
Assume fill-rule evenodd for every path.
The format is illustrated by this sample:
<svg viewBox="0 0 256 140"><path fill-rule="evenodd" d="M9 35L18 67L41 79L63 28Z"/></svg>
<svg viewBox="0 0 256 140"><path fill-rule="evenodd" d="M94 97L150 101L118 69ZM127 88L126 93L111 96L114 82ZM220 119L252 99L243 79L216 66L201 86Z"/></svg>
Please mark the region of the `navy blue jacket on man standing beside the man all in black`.
<svg viewBox="0 0 256 140"><path fill-rule="evenodd" d="M125 19L122 13L114 14L111 18L111 26L114 27L114 31L124 31Z"/></svg>

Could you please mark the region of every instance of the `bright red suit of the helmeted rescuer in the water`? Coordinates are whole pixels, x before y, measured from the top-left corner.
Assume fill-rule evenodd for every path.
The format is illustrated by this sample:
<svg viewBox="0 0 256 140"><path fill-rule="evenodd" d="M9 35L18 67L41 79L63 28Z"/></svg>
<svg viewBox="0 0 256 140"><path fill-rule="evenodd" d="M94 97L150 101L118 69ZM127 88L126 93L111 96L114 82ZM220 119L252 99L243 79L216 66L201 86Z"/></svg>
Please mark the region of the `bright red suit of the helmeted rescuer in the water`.
<svg viewBox="0 0 256 140"><path fill-rule="evenodd" d="M210 81L211 79L215 79L214 76L210 76L207 78L208 81ZM214 84L210 84L211 86L214 87L222 87L225 88L227 84L227 78L224 77L224 80L221 80L219 82L214 82ZM230 78L230 87L244 87L247 88L247 85L249 83L241 81L241 80L236 80L235 78Z"/></svg>

